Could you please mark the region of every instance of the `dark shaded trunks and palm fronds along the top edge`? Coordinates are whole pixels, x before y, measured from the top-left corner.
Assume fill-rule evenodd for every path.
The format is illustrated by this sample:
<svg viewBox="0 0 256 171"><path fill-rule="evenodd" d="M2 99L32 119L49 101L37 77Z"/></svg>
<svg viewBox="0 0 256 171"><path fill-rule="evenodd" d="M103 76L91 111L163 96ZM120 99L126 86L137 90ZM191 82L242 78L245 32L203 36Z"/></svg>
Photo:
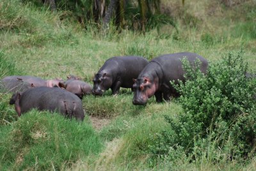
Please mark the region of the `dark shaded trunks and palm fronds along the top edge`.
<svg viewBox="0 0 256 171"><path fill-rule="evenodd" d="M52 0L47 1L44 1L47 7L63 13L61 19L71 17L78 20L84 28L87 28L88 24L95 24L98 28L102 28L103 25L106 29L111 20L120 30L128 28L145 32L161 24L175 26L170 16L161 13L159 0L58 0L55 1L56 4L52 4L54 2ZM43 3L41 0L23 0L23 2L40 7Z"/></svg>

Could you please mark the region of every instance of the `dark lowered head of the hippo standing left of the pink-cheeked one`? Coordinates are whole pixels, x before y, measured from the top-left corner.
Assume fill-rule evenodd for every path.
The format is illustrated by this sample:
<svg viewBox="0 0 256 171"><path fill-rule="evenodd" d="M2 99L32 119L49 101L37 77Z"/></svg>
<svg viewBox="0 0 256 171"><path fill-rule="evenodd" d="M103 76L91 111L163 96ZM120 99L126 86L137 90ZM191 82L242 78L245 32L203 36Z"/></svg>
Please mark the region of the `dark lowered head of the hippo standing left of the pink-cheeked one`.
<svg viewBox="0 0 256 171"><path fill-rule="evenodd" d="M104 91L112 85L112 78L108 73L97 73L93 78L92 93L96 96L102 96Z"/></svg>

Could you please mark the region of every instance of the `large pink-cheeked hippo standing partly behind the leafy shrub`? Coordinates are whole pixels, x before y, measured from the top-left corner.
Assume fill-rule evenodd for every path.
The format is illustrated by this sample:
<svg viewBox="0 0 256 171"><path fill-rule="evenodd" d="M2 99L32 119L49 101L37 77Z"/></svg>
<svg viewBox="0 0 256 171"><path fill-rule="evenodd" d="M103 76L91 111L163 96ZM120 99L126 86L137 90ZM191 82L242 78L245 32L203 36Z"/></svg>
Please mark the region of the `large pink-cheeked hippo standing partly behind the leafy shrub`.
<svg viewBox="0 0 256 171"><path fill-rule="evenodd" d="M196 59L201 61L200 70L206 73L208 62L202 56L191 52L180 52L177 54L165 54L150 61L141 71L138 78L134 79L133 89L134 105L146 105L148 98L156 96L156 101L169 101L170 96L179 96L179 93L172 87L170 81L178 80L185 82L182 61L186 57L189 63L193 64Z"/></svg>

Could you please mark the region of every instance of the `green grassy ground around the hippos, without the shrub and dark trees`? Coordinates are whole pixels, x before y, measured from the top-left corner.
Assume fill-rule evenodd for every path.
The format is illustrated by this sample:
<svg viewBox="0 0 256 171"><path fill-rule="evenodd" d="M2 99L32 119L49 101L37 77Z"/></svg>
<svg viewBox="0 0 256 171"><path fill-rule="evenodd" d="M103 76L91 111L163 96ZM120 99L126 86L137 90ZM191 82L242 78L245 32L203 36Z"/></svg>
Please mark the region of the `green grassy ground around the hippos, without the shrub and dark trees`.
<svg viewBox="0 0 256 171"><path fill-rule="evenodd" d="M137 55L150 60L161 54L188 51L214 62L241 48L250 70L256 70L255 3L225 8L217 1L186 1L183 9L180 1L163 2L173 6L179 33L164 26L145 35L128 30L118 34L112 27L102 34L93 24L83 30L74 22L60 20L61 12L1 0L0 78L66 78L72 74L92 84L94 74L113 56ZM125 89L117 96L110 91L102 97L86 96L86 113L110 120L95 132L89 117L78 124L61 115L33 110L18 118L14 107L8 105L10 96L0 94L0 136L4 137L0 140L0 170L250 170L255 166L255 158L243 164L214 164L201 156L195 163L177 160L151 168L148 148L157 133L167 129L163 115L183 112L175 100L158 104L151 98L146 107L138 107L132 105L131 90ZM36 133L41 137L35 138Z"/></svg>

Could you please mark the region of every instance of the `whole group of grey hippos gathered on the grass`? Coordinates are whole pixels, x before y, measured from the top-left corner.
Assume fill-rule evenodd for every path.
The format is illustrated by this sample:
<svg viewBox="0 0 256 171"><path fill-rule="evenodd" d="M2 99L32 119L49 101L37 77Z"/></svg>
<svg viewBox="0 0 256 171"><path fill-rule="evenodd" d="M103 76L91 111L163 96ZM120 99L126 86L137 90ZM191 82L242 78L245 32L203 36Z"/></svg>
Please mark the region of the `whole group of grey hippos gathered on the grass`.
<svg viewBox="0 0 256 171"><path fill-rule="evenodd" d="M60 112L67 118L83 121L84 110L81 99L86 94L102 96L111 89L118 94L120 87L131 88L134 92L132 103L146 105L148 98L156 96L156 101L169 101L179 94L170 84L178 80L185 82L182 61L186 57L190 64L201 61L200 70L206 73L208 62L202 56L191 52L165 54L147 61L140 56L118 56L108 59L93 78L93 87L75 76L44 80L31 76L9 76L0 80L0 91L14 93L10 105L20 116L37 108Z"/></svg>

